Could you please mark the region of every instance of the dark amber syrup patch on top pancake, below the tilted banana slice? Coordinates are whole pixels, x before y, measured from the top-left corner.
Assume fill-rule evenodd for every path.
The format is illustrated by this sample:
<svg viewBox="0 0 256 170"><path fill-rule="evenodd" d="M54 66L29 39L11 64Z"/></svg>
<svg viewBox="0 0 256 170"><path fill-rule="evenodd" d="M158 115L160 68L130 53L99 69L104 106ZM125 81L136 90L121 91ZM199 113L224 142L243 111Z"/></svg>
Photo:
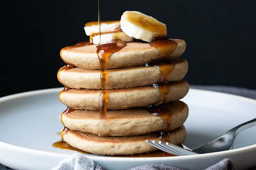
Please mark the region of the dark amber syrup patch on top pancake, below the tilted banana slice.
<svg viewBox="0 0 256 170"><path fill-rule="evenodd" d="M177 42L169 40L166 37L155 38L151 41L150 46L157 48L160 54L163 54L165 57L169 57L175 51Z"/></svg>

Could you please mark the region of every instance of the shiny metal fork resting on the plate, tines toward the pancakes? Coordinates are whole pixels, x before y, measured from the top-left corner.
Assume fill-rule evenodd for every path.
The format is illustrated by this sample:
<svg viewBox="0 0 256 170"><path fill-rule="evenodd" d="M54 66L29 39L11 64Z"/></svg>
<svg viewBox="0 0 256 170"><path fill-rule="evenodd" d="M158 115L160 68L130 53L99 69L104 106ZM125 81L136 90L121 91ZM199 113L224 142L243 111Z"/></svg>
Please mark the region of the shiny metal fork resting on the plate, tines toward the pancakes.
<svg viewBox="0 0 256 170"><path fill-rule="evenodd" d="M217 139L204 144L201 147L198 147L194 150L190 150L188 147L183 145L184 148L171 144L169 142L162 141L150 141L146 140L148 144L151 144L154 147L157 147L160 150L163 150L167 153L172 153L178 156L185 155L195 155L199 153L212 153L219 152L223 150L230 150L233 147L233 142L236 136L243 130L248 129L250 127L256 126L256 119L252 119L250 121L244 122L232 129L228 130L226 133L218 137ZM186 148L186 149L185 149Z"/></svg>

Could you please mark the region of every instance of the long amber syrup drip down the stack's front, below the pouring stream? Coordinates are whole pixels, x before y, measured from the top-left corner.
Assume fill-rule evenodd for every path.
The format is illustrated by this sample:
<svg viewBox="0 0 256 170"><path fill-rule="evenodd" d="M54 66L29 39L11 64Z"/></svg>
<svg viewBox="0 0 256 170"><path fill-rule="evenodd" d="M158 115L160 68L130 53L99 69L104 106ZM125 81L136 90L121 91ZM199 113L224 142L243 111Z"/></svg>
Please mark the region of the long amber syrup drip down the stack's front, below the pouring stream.
<svg viewBox="0 0 256 170"><path fill-rule="evenodd" d="M108 58L116 51L124 48L126 43L123 41L115 41L109 44L102 44L97 46L97 55L99 58L100 63L100 70L101 70L101 86L102 86L102 93L99 97L99 114L101 118L106 118L107 114L107 102L108 102L108 94L106 92L106 81L107 81L107 71L106 71L106 64L108 62Z"/></svg>

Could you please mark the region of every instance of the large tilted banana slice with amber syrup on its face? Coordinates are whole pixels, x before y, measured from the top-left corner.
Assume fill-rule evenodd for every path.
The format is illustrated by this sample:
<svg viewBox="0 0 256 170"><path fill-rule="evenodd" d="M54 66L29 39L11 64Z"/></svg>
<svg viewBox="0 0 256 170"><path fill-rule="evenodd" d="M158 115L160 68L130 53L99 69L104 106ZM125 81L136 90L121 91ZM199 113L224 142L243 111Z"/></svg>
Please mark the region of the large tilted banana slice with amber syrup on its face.
<svg viewBox="0 0 256 170"><path fill-rule="evenodd" d="M166 25L138 11L125 11L120 20L123 32L130 37L151 42L155 37L166 37Z"/></svg>

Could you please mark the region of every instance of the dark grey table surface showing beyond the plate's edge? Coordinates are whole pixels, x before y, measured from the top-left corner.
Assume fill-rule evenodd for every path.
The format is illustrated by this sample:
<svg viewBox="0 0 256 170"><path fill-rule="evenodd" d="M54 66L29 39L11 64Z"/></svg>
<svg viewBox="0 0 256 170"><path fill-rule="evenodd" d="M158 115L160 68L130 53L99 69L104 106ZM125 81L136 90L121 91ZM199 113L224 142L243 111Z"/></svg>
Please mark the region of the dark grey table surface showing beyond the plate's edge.
<svg viewBox="0 0 256 170"><path fill-rule="evenodd" d="M256 99L256 90L254 89L231 87L231 86L205 86L205 85L190 85L190 88L224 92L224 93L248 97L251 99ZM13 170L13 169L0 164L0 170ZM254 167L251 170L256 170L256 167Z"/></svg>

